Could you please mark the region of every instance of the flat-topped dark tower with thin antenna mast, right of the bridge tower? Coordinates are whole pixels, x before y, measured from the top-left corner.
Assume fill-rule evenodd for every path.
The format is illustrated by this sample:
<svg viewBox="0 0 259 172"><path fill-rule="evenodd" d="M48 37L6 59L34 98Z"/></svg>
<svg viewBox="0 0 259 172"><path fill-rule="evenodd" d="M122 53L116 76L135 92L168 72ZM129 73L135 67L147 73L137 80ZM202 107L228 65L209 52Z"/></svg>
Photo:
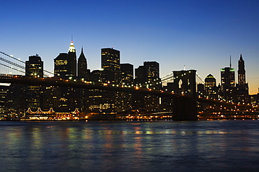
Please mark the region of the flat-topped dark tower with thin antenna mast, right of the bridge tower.
<svg viewBox="0 0 259 172"><path fill-rule="evenodd" d="M237 92L235 87L235 69L231 67L231 57L230 57L230 67L225 67L221 69L221 96L226 101L237 102Z"/></svg>

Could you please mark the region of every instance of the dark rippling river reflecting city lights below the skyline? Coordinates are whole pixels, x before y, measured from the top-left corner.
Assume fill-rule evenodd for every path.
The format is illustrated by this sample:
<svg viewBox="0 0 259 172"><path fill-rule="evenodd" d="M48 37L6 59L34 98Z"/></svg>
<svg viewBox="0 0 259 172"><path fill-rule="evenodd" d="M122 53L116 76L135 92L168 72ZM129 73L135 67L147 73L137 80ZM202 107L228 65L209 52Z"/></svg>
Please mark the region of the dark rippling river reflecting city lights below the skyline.
<svg viewBox="0 0 259 172"><path fill-rule="evenodd" d="M259 171L259 120L0 122L0 171Z"/></svg>

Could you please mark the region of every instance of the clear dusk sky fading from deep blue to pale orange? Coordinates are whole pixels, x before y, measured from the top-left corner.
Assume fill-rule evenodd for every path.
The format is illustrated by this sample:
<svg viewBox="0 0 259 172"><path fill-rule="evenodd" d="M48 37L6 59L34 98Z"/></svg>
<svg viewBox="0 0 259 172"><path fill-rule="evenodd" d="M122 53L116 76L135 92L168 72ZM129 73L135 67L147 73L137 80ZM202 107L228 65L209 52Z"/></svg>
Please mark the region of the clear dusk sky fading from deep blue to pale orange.
<svg viewBox="0 0 259 172"><path fill-rule="evenodd" d="M121 63L160 63L160 77L197 70L221 83L221 68L245 61L249 94L259 87L259 1L253 0L1 0L0 51L23 61L38 54L44 69L67 52L73 34L88 69L101 67L101 48L120 50ZM236 80L237 82L237 80Z"/></svg>

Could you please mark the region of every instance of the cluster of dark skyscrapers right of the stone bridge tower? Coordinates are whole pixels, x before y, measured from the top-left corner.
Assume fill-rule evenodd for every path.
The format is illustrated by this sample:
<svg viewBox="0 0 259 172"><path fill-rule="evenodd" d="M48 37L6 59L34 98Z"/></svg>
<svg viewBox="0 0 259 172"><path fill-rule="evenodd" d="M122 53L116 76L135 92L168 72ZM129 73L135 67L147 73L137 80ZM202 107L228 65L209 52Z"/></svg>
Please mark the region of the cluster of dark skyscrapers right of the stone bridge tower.
<svg viewBox="0 0 259 172"><path fill-rule="evenodd" d="M240 55L237 71L238 83L235 81L235 69L230 67L221 69L221 84L216 85L216 78L209 74L204 84L197 85L197 92L200 96L214 99L222 99L233 103L251 103L251 96L248 94L248 83L246 83L246 71L244 59ZM255 103L252 98L253 103Z"/></svg>

